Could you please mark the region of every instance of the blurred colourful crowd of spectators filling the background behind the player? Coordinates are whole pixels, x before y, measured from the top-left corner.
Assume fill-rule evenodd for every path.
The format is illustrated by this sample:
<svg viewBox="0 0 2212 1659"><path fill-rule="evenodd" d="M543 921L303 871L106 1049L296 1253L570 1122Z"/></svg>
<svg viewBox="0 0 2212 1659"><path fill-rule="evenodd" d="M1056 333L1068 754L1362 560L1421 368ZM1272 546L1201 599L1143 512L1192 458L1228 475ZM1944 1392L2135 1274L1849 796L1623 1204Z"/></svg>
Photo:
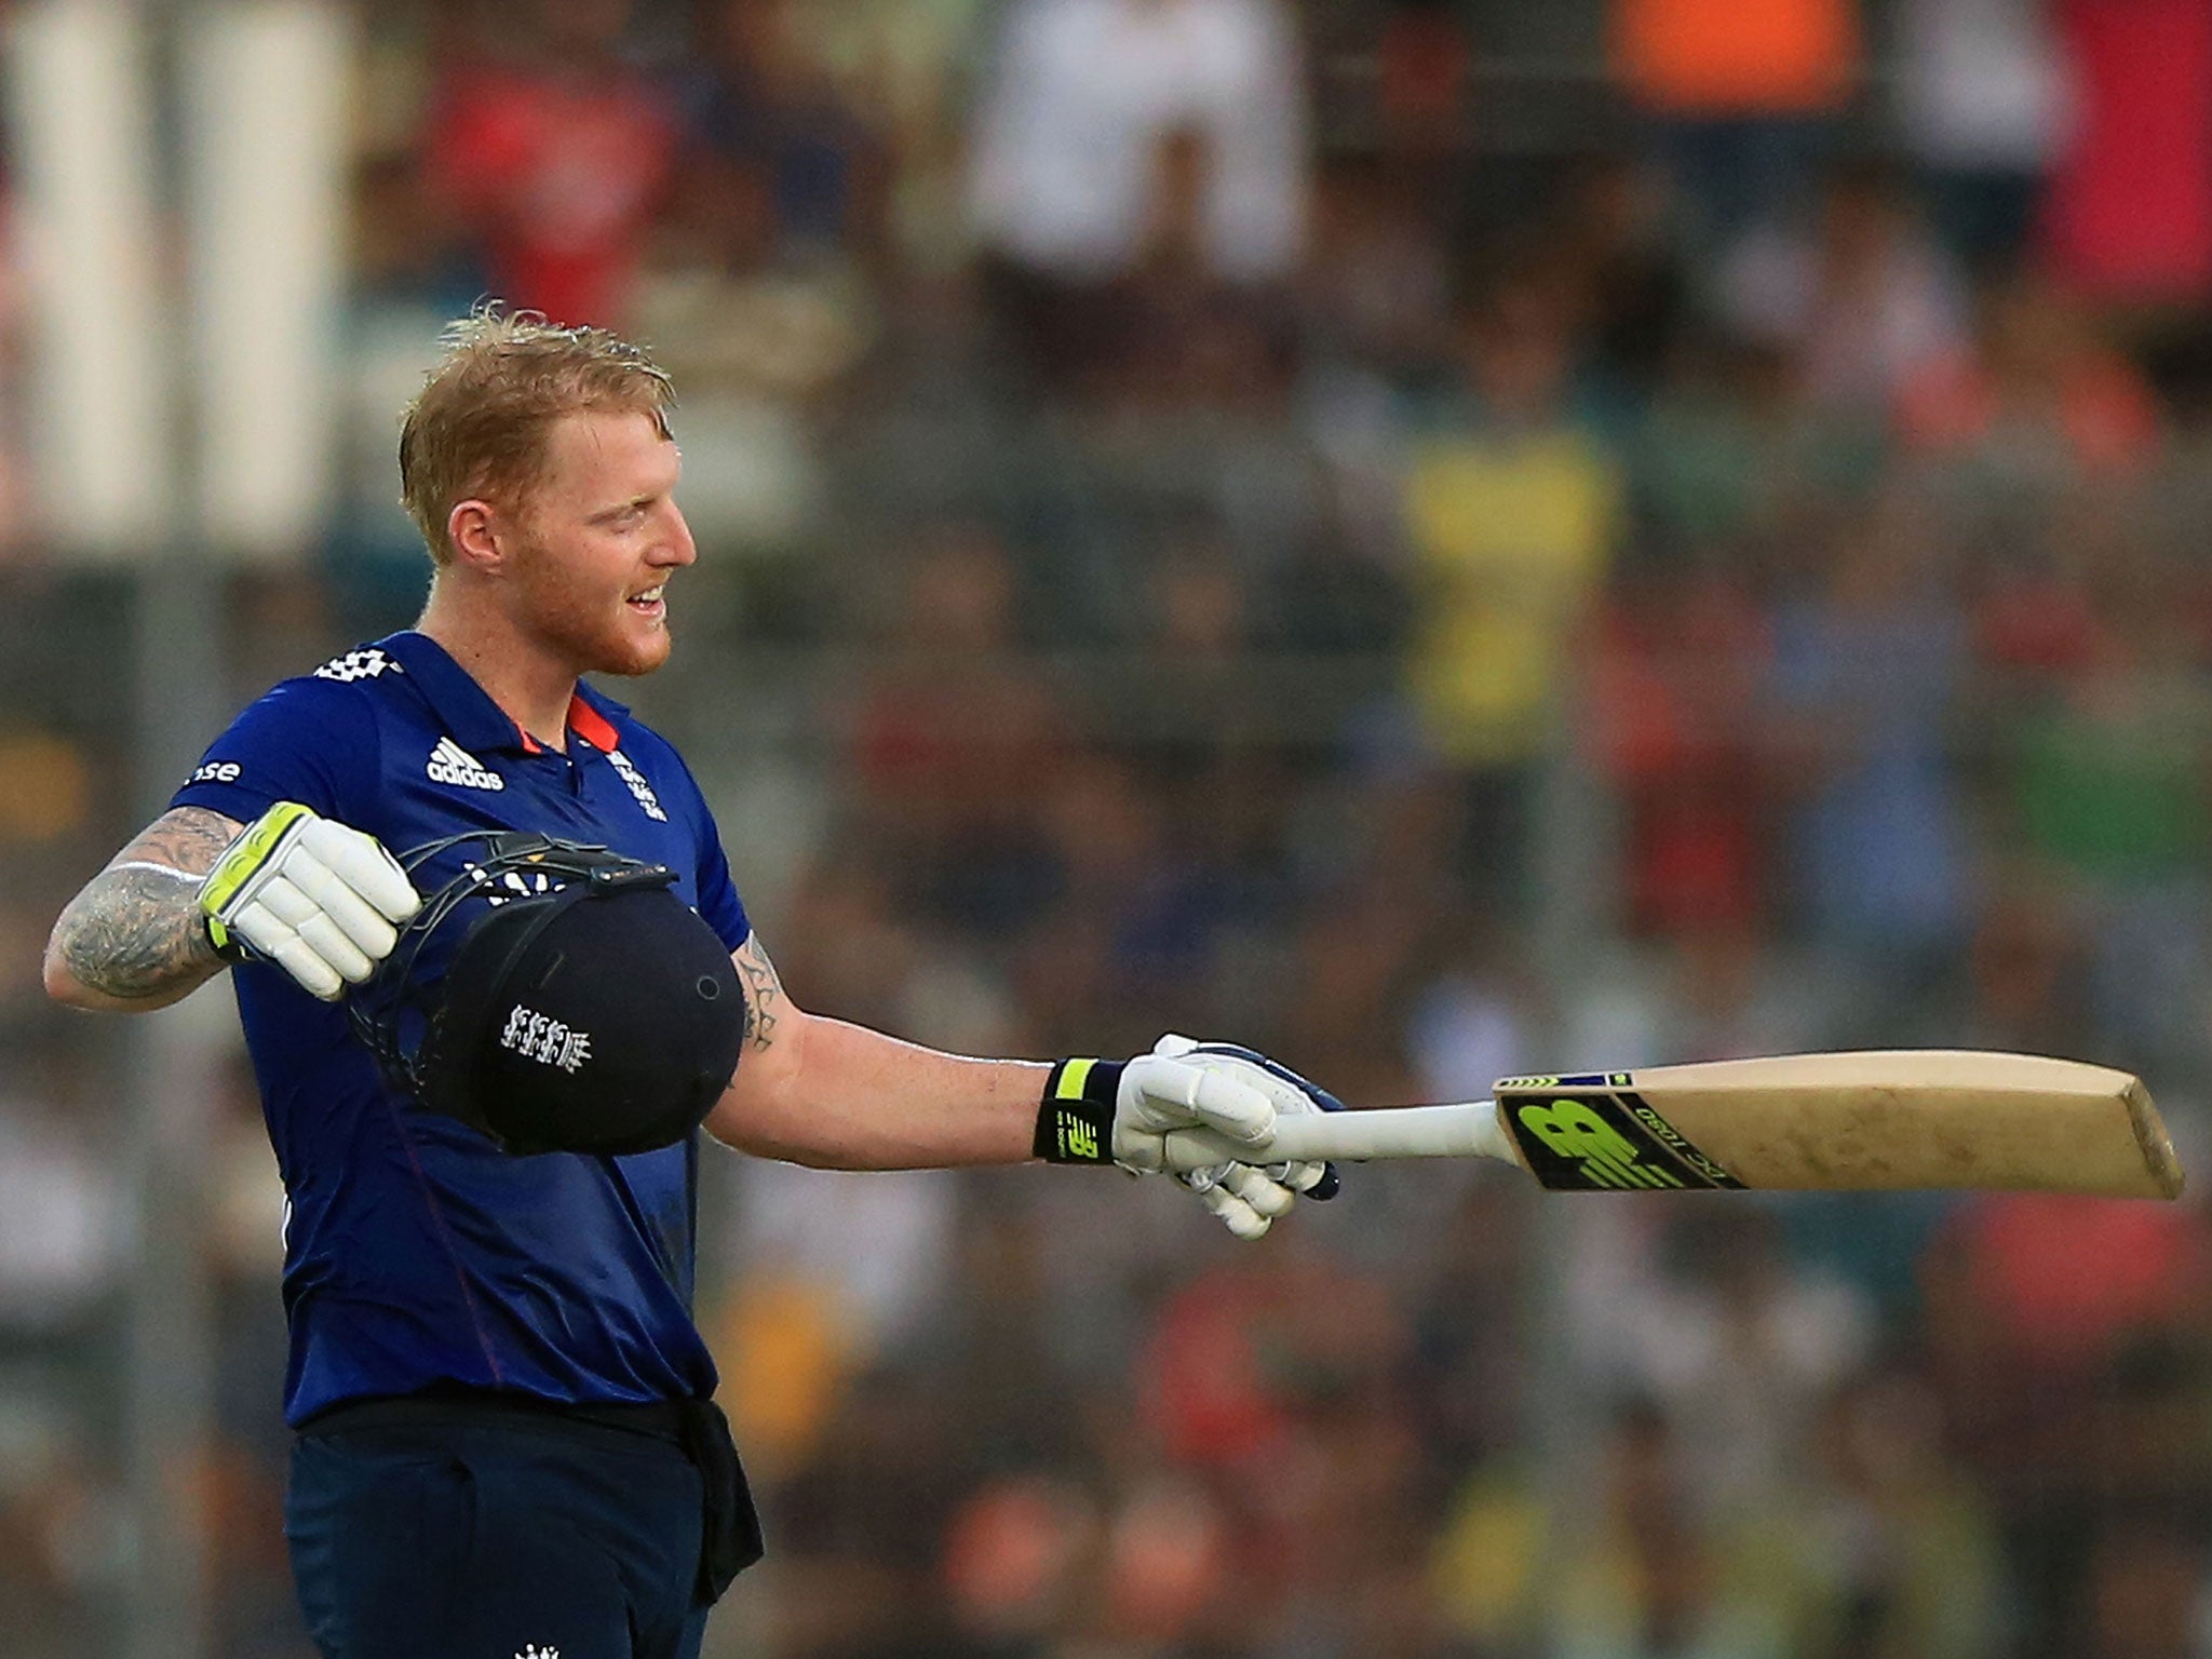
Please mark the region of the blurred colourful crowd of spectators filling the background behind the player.
<svg viewBox="0 0 2212 1659"><path fill-rule="evenodd" d="M237 692L411 617L392 411L440 319L641 336L706 557L635 699L801 1004L1237 1037L1360 1104L2026 1048L2212 1148L2197 0L380 2L354 208L347 484L241 582ZM128 827L53 644L97 608L0 571L44 779L0 843L73 887ZM97 1650L128 1548L53 891L0 911L24 1659ZM228 1124L195 1478L219 1650L274 1659L243 1075ZM2199 1201L1345 1186L1232 1248L1110 1175L719 1164L772 1557L710 1650L2212 1652Z"/></svg>

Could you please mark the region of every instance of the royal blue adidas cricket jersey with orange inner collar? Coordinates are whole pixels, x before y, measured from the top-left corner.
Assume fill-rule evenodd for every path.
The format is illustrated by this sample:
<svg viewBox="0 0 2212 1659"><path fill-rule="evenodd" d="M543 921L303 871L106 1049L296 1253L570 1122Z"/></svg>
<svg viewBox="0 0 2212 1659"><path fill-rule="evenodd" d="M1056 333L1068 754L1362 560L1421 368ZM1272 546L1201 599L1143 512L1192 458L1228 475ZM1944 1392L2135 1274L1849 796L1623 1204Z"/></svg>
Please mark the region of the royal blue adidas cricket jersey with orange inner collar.
<svg viewBox="0 0 2212 1659"><path fill-rule="evenodd" d="M173 805L252 823L276 801L394 854L467 830L608 845L675 869L684 902L730 949L745 942L714 818L675 748L591 688L568 706L566 752L542 748L418 633L276 686ZM462 854L416 885L431 891ZM288 1194L288 1422L453 1383L575 1402L714 1391L690 1316L697 1135L637 1157L507 1157L387 1088L343 1006L274 964L232 980Z"/></svg>

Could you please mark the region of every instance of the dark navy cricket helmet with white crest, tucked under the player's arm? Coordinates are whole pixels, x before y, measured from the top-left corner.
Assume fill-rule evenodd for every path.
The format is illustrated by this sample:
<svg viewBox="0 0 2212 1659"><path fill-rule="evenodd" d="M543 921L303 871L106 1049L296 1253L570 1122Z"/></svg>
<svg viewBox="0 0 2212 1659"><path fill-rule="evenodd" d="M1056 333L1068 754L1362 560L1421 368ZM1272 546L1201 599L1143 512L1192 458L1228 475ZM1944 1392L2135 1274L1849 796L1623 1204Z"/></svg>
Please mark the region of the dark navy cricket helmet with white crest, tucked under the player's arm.
<svg viewBox="0 0 2212 1659"><path fill-rule="evenodd" d="M650 1152L699 1128L745 1002L675 872L529 832L447 836L400 865L422 885L456 854L347 998L385 1082L513 1155Z"/></svg>

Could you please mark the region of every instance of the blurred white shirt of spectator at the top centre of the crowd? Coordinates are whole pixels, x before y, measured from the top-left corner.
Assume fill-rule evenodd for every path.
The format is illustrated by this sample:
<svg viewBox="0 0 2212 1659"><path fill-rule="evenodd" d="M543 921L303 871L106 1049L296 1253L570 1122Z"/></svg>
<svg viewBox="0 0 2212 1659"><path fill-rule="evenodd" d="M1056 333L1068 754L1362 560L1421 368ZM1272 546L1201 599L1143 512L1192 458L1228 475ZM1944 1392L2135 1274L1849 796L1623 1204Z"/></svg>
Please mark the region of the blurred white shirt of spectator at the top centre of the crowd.
<svg viewBox="0 0 2212 1659"><path fill-rule="evenodd" d="M975 226L1040 272L1115 276L1144 254L1179 135L1208 157L1208 270L1287 274L1305 239L1305 86L1274 0L1018 0L980 117Z"/></svg>

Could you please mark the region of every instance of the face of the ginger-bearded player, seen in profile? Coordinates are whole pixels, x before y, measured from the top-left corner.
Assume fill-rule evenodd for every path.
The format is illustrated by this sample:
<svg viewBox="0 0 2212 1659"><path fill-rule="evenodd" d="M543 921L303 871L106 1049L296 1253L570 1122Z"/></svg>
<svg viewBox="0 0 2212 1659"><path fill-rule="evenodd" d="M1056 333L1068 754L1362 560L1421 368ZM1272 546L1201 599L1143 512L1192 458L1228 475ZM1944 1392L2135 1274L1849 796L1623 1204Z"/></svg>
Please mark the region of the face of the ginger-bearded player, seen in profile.
<svg viewBox="0 0 2212 1659"><path fill-rule="evenodd" d="M564 416L515 513L515 628L577 675L650 675L672 639L668 575L697 557L672 500L681 456L644 414Z"/></svg>

